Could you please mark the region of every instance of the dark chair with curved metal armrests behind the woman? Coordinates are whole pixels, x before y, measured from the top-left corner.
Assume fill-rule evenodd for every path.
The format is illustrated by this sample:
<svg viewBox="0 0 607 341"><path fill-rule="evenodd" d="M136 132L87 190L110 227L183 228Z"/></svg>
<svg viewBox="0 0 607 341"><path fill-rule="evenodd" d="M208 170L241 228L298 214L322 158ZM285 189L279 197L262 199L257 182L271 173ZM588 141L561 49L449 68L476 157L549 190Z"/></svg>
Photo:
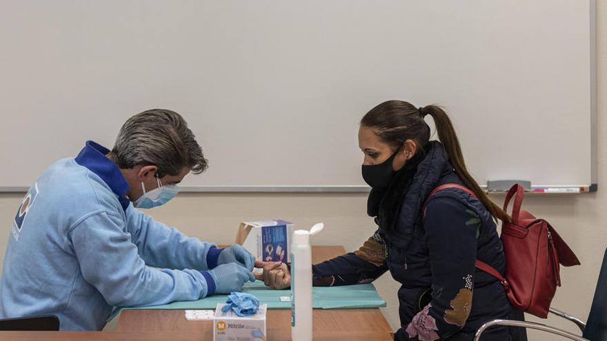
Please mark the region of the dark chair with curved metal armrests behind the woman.
<svg viewBox="0 0 607 341"><path fill-rule="evenodd" d="M558 329L550 327L546 324L535 323L535 322L522 322L514 320L492 320L483 324L475 335L475 341L479 341L482 333L493 326L513 326L513 327L524 327L530 329L538 329L541 331L548 331L561 335L570 340L577 341L607 341L607 249L603 256L603 264L601 265L601 272L599 272L599 280L597 281L597 289L595 289L595 297L593 298L593 305L590 307L590 313L588 313L588 321L584 323L570 316L568 313L559 311L557 309L550 308L550 313L553 313L561 318L566 318L571 322L577 324L577 327L581 330L582 335L575 335Z"/></svg>

